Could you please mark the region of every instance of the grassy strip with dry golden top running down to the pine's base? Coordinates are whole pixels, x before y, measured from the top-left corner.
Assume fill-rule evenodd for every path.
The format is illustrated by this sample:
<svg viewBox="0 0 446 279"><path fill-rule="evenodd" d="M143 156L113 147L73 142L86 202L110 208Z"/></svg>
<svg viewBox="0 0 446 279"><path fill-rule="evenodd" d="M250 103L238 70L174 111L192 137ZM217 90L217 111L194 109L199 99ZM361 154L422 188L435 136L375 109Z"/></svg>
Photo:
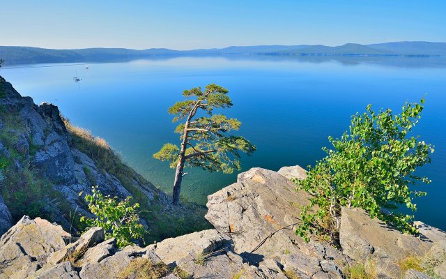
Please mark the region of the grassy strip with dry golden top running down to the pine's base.
<svg viewBox="0 0 446 279"><path fill-rule="evenodd" d="M95 162L98 169L103 169L116 176L122 185L132 193L133 201L141 205L141 211L146 211L141 213L141 217L151 225L151 231L146 237L147 243L211 227L203 218L206 214L204 206L184 201L183 206L172 207L167 204L169 201L160 200L159 195L155 195L155 201L150 202L149 205L146 195L133 185L132 180L153 188L155 186L125 165L105 140L93 137L88 131L72 126L68 121L65 122L72 137L72 147L86 153Z"/></svg>

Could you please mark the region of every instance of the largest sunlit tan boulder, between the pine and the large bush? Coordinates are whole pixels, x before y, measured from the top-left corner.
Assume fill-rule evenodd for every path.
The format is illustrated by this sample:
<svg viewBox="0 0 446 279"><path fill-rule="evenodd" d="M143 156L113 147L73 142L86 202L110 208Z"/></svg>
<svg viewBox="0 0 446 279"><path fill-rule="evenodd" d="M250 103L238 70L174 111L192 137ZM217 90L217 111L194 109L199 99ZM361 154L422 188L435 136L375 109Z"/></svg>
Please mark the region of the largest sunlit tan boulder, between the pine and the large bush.
<svg viewBox="0 0 446 279"><path fill-rule="evenodd" d="M295 169L298 169L295 167ZM253 168L238 181L208 196L206 219L233 241L233 250L251 264L279 274L291 269L302 278L325 273L325 257L344 261L339 251L312 241L304 243L293 232L307 193L295 183L268 169Z"/></svg>

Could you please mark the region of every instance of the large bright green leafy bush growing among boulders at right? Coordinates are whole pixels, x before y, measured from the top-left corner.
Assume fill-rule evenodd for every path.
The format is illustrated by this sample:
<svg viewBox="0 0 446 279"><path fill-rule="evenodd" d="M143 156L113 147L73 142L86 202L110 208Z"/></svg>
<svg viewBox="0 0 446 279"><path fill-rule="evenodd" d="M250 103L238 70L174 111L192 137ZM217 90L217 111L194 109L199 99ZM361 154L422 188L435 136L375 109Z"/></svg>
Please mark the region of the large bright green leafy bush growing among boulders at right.
<svg viewBox="0 0 446 279"><path fill-rule="evenodd" d="M418 103L406 103L401 114L393 115L390 109L376 113L368 105L367 112L352 116L349 133L340 139L329 137L334 150L323 149L328 155L309 167L307 179L295 180L298 189L312 195L309 206L302 208L296 232L306 241L313 233L336 240L341 206L347 206L416 234L413 216L397 209L405 205L415 211L413 198L426 193L410 186L431 182L415 171L431 162L433 146L410 136L422 110Z"/></svg>

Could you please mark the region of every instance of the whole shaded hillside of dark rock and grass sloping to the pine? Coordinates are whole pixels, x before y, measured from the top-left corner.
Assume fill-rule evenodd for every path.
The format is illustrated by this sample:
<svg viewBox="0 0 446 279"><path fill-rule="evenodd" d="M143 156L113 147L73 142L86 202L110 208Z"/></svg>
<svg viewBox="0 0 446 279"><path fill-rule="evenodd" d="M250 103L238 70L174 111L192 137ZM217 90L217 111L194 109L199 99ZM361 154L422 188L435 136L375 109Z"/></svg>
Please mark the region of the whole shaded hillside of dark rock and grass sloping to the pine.
<svg viewBox="0 0 446 279"><path fill-rule="evenodd" d="M208 227L200 206L175 211L162 191L125 165L105 140L72 126L49 103L36 105L0 77L0 234L22 216L40 216L74 231L89 216L84 195L98 185L105 195L132 196L145 213L148 240ZM79 197L79 193L83 193ZM189 226L177 225L186 220ZM74 222L74 224L73 224ZM156 225L154 225L156 223Z"/></svg>

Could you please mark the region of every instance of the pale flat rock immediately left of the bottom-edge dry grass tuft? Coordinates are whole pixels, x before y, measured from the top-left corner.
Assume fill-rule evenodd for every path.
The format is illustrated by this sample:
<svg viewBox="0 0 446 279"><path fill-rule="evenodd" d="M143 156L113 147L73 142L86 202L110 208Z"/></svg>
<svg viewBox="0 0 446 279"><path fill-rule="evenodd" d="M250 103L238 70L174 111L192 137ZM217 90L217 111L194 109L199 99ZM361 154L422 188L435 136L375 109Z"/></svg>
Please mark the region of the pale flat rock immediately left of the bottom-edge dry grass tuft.
<svg viewBox="0 0 446 279"><path fill-rule="evenodd" d="M132 259L143 256L150 259L152 264L161 262L161 259L153 253L153 246L148 246L148 248L127 246L113 256L102 259L100 262L86 264L80 271L79 276L82 279L118 278L119 273L130 264Z"/></svg>

